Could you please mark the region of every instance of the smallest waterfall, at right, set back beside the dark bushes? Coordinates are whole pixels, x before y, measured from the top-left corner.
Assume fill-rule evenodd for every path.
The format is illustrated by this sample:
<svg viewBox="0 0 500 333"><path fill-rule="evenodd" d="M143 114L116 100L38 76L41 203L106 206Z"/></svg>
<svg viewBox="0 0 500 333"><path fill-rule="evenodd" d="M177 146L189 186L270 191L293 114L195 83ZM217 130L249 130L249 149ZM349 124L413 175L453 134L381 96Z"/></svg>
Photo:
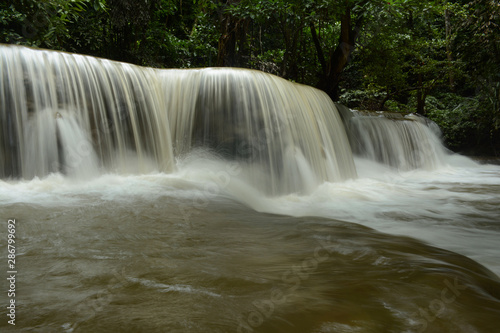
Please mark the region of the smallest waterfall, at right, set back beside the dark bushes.
<svg viewBox="0 0 500 333"><path fill-rule="evenodd" d="M362 112L337 106L354 154L401 171L433 170L445 163L439 127L414 114Z"/></svg>

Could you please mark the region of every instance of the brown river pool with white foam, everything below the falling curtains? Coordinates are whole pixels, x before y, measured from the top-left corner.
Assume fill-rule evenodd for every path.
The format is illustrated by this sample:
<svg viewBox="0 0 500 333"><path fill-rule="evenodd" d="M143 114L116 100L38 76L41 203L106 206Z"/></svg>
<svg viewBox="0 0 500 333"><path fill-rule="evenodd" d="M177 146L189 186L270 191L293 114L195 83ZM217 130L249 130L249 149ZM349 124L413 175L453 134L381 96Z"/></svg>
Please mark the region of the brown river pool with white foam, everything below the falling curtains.
<svg viewBox="0 0 500 333"><path fill-rule="evenodd" d="M174 175L0 183L1 216L17 222L18 271L16 326L4 318L0 330L495 332L500 326L500 280L490 271L500 271L499 169L447 169L428 180L404 174L398 177L405 183L394 177L385 188L361 178L325 184L329 195L323 188L309 196L252 198L237 179L206 194L193 179L209 173L209 163L198 162ZM384 196L375 206L372 186ZM391 191L401 190L406 196L392 201ZM346 201L336 206L341 197ZM418 205L412 208L411 200ZM295 215L306 208L344 214L345 221L248 206L263 203Z"/></svg>

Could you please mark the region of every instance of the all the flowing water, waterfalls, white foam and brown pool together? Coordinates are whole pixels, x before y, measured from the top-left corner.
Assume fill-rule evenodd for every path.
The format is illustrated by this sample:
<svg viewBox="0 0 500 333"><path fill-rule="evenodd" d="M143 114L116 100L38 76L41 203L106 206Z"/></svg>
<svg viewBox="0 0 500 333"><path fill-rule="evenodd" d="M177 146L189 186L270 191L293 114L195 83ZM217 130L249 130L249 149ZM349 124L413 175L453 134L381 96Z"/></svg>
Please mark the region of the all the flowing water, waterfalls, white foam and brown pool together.
<svg viewBox="0 0 500 333"><path fill-rule="evenodd" d="M500 167L422 119L344 127L254 71L7 46L0 70L2 332L500 327Z"/></svg>

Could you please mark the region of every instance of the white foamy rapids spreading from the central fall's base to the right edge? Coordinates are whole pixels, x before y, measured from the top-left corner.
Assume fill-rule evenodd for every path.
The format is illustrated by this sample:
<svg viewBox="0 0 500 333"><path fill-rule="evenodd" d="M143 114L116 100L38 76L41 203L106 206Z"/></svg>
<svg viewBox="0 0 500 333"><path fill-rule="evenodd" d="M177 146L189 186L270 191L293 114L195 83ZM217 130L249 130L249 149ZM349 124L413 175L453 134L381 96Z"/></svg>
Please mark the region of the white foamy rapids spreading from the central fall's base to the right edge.
<svg viewBox="0 0 500 333"><path fill-rule="evenodd" d="M356 164L359 179L325 183L309 196L250 204L261 212L328 217L407 235L466 255L500 275L499 166L394 173L362 159Z"/></svg>

